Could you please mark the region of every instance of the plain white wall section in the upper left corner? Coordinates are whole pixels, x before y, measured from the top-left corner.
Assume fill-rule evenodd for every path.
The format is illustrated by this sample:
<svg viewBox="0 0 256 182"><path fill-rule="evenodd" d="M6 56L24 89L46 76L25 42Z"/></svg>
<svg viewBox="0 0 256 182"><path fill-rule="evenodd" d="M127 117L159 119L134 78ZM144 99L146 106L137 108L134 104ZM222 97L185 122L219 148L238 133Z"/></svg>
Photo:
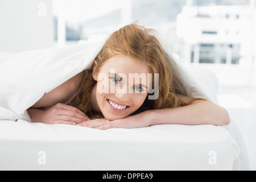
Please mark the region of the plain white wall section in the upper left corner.
<svg viewBox="0 0 256 182"><path fill-rule="evenodd" d="M0 1L0 52L53 46L51 0Z"/></svg>

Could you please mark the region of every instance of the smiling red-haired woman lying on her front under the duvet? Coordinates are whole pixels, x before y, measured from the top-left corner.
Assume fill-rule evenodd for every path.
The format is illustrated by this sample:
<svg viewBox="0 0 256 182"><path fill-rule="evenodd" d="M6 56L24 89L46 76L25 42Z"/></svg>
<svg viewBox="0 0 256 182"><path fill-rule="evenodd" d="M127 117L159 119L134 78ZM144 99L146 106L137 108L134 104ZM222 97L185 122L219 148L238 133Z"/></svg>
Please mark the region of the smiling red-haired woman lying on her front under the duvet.
<svg viewBox="0 0 256 182"><path fill-rule="evenodd" d="M32 122L97 129L157 124L228 125L229 115L223 107L181 95L180 85L172 77L173 62L152 30L130 24L110 36L94 60L93 69L44 94L27 110L28 114ZM152 79L127 81L129 74L151 75ZM100 75L106 77L102 79ZM156 92L150 92L150 86L157 88ZM111 88L115 88L114 92ZM154 94L157 97L148 99Z"/></svg>

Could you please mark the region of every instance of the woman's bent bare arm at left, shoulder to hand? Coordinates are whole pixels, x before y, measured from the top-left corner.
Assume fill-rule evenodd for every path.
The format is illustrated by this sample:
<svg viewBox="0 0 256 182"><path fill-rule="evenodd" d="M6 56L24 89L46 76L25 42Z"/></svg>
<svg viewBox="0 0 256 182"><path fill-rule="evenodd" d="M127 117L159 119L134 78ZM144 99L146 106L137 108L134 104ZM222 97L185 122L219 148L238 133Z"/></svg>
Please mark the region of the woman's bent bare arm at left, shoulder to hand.
<svg viewBox="0 0 256 182"><path fill-rule="evenodd" d="M64 82L51 92L44 94L38 102L27 109L32 122L42 122L47 124L63 123L76 125L82 121L88 121L86 114L73 106L63 103L78 89L83 72ZM50 107L48 110L41 110L41 107Z"/></svg>

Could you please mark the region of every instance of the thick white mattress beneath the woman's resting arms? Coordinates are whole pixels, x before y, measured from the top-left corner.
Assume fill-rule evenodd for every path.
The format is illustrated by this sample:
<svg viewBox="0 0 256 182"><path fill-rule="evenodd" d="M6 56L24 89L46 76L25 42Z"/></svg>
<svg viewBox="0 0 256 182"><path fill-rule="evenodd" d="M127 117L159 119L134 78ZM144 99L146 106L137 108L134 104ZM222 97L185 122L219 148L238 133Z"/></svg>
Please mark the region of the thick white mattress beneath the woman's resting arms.
<svg viewBox="0 0 256 182"><path fill-rule="evenodd" d="M239 155L222 126L97 130L0 121L0 170L233 170Z"/></svg>

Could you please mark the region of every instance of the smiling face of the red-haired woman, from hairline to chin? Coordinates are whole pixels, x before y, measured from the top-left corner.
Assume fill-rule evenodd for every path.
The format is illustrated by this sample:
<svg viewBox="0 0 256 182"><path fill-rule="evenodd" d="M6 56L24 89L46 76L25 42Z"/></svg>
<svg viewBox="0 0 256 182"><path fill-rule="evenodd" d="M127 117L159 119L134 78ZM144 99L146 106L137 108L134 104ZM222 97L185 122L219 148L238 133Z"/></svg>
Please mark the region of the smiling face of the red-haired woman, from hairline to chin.
<svg viewBox="0 0 256 182"><path fill-rule="evenodd" d="M108 120L125 118L134 113L147 97L151 80L147 79L150 68L145 63L127 56L114 56L96 71L96 100Z"/></svg>

